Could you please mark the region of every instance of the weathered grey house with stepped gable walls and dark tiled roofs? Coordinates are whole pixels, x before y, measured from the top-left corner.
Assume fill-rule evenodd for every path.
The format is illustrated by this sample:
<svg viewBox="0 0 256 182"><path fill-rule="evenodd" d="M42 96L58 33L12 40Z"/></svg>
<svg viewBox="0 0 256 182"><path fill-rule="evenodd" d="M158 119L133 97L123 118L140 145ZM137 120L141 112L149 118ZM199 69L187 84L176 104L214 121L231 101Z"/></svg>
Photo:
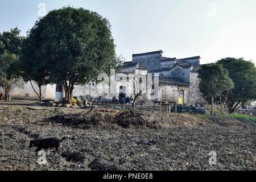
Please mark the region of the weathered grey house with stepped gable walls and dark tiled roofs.
<svg viewBox="0 0 256 182"><path fill-rule="evenodd" d="M158 74L159 87L155 90L158 101L177 102L182 105L204 104L197 78L200 59L200 56L185 59L163 57L163 51L139 53L133 55L132 61L125 63L122 72L143 71L144 74Z"/></svg>

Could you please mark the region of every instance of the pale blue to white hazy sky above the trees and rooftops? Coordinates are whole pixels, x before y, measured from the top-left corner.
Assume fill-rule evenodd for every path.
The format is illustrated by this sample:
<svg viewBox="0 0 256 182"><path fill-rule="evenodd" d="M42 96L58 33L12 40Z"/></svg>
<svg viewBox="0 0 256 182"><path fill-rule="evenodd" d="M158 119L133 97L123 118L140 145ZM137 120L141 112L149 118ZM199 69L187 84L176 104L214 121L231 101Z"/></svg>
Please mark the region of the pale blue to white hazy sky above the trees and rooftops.
<svg viewBox="0 0 256 182"><path fill-rule="evenodd" d="M201 56L201 64L223 57L256 64L255 0L0 0L0 32L18 27L26 36L40 16L68 5L109 19L126 61L163 50L165 57Z"/></svg>

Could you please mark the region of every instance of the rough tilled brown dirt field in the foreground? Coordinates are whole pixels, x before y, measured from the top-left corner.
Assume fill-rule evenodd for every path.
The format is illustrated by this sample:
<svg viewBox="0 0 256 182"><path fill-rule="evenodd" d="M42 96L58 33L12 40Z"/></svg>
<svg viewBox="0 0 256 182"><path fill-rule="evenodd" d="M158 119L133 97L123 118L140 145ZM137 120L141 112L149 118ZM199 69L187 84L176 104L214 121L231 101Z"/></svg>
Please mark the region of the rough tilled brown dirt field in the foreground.
<svg viewBox="0 0 256 182"><path fill-rule="evenodd" d="M256 125L189 114L0 105L0 170L255 170ZM31 139L68 137L40 165ZM209 153L217 163L210 165ZM212 153L213 154L213 153Z"/></svg>

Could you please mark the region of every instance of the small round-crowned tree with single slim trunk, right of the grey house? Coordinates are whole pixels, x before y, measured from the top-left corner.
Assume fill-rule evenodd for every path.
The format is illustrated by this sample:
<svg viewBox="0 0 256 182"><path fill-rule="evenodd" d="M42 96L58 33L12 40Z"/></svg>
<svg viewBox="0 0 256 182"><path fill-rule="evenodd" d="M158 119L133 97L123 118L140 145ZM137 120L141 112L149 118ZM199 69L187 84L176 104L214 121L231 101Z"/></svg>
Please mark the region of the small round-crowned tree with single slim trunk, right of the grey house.
<svg viewBox="0 0 256 182"><path fill-rule="evenodd" d="M228 71L220 64L204 64L200 66L198 75L200 78L199 88L205 97L210 97L212 114L214 98L234 86L228 75Z"/></svg>

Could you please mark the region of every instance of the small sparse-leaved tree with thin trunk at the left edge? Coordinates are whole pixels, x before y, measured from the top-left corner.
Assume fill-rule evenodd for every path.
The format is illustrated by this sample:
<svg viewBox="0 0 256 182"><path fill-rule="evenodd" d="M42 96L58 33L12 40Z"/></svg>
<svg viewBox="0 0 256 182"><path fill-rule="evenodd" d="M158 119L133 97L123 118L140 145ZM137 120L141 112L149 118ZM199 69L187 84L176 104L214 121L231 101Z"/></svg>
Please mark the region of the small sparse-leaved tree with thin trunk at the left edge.
<svg viewBox="0 0 256 182"><path fill-rule="evenodd" d="M18 56L4 53L0 56L0 86L5 92L5 100L10 100L10 92L15 88L23 87L23 80L17 74L15 63Z"/></svg>

